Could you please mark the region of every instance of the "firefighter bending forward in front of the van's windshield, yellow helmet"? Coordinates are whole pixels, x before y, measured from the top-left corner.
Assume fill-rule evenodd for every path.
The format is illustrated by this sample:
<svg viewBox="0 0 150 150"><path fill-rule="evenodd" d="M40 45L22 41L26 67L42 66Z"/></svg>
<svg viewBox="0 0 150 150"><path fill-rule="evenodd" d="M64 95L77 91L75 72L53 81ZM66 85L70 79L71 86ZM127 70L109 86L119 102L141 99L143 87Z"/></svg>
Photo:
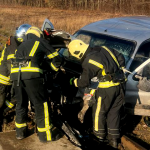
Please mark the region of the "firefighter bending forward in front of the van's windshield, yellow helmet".
<svg viewBox="0 0 150 150"><path fill-rule="evenodd" d="M117 148L120 140L120 110L124 98L125 76L122 68L125 59L116 50L106 46L91 48L77 39L70 42L68 50L70 55L81 60L83 68L80 77L72 78L70 84L85 88L93 77L99 79L98 88L94 90L96 103L92 106L93 133L100 141L104 141L108 134L110 145Z"/></svg>

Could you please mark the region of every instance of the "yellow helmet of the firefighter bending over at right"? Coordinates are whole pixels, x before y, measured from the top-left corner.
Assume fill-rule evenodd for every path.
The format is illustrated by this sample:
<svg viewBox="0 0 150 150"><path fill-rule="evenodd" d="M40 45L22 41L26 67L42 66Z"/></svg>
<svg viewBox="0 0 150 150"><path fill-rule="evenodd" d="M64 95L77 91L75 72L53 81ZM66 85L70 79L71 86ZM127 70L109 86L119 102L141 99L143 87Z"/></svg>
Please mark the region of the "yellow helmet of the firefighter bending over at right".
<svg viewBox="0 0 150 150"><path fill-rule="evenodd" d="M88 44L78 39L71 41L68 45L70 54L78 59L83 57L88 47Z"/></svg>

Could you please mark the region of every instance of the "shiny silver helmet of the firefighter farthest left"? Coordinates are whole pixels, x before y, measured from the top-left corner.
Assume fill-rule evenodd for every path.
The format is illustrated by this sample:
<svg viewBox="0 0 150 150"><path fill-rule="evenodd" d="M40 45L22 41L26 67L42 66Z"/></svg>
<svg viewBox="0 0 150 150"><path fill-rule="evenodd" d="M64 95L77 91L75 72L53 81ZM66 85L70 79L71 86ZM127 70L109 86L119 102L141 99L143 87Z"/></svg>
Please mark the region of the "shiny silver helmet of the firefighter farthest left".
<svg viewBox="0 0 150 150"><path fill-rule="evenodd" d="M22 24L21 26L16 28L16 39L18 40L18 42L23 42L25 33L27 32L27 30L31 27L31 25L29 24Z"/></svg>

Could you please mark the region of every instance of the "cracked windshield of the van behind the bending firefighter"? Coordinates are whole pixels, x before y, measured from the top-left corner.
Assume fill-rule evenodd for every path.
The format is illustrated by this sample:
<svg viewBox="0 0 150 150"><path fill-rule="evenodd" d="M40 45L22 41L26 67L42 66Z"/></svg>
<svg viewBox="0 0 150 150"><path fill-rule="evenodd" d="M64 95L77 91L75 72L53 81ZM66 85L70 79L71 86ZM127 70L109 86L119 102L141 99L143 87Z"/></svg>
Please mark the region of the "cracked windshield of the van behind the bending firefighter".
<svg viewBox="0 0 150 150"><path fill-rule="evenodd" d="M78 31L74 34L77 39L81 39L86 44L89 44L91 47L95 46L108 46L109 48L113 48L118 52L124 55L126 63L131 57L131 54L134 50L134 42L118 39L112 36L106 36L102 34L92 33L88 31ZM69 53L67 49L62 49L60 53L67 59L72 59L77 61L74 57L69 57Z"/></svg>

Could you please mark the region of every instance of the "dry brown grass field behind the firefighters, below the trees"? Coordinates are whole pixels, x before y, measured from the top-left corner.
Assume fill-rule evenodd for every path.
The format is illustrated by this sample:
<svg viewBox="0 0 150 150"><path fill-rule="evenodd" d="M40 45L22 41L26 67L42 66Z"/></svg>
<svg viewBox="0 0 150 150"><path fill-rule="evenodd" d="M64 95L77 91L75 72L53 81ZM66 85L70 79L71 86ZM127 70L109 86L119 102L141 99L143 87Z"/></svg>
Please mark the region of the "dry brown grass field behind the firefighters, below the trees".
<svg viewBox="0 0 150 150"><path fill-rule="evenodd" d="M90 11L71 11L50 8L35 8L27 6L0 5L0 34L10 36L15 28L21 24L29 23L40 27L45 18L48 18L55 29L62 29L71 34L86 24L118 15L101 14ZM0 43L6 41L0 36Z"/></svg>

